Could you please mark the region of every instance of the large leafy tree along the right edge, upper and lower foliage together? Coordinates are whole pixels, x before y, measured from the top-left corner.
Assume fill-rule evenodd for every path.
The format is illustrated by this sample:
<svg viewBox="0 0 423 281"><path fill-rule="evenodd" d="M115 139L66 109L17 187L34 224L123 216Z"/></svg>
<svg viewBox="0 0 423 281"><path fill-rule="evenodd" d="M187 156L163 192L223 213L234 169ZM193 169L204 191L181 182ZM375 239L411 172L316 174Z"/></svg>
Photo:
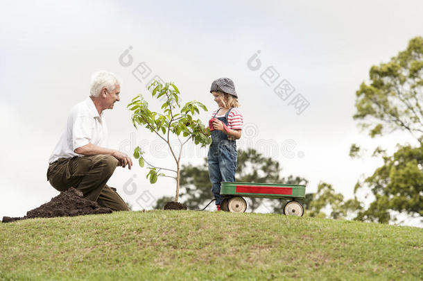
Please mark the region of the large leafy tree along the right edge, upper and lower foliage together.
<svg viewBox="0 0 423 281"><path fill-rule="evenodd" d="M392 156L378 147L374 155L383 157L383 166L374 171L356 189L368 187L374 201L357 219L388 223L390 211L422 216L422 141L423 141L423 38L415 37L405 51L388 63L370 69L370 83L362 83L356 92L354 119L369 130L369 135L386 135L394 130L408 132L418 146L398 146ZM359 153L356 144L350 155ZM395 218L394 218L395 219Z"/></svg>

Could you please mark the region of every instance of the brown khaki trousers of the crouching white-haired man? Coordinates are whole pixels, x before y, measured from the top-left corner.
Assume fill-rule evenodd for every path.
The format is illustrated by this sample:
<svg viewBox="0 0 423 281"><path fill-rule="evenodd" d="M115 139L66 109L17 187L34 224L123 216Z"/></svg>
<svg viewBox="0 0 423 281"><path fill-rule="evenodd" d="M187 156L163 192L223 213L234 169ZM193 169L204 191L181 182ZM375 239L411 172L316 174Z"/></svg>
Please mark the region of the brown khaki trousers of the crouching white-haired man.
<svg viewBox="0 0 423 281"><path fill-rule="evenodd" d="M96 201L101 207L129 211L116 189L106 185L117 164L112 155L60 158L49 165L47 180L58 191L75 187L83 191L84 198Z"/></svg>

